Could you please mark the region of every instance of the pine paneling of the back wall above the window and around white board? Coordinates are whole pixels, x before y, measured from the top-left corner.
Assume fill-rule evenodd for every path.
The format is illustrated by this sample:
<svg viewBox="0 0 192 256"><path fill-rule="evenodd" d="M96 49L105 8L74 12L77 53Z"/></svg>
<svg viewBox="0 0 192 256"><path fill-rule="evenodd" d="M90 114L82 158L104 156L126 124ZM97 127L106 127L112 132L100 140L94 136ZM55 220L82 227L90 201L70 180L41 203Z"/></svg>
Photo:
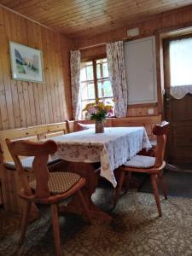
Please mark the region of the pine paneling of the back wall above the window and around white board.
<svg viewBox="0 0 192 256"><path fill-rule="evenodd" d="M118 40L127 39L127 29L134 27L139 28L139 36L136 38L145 38L152 35L156 37L156 66L157 66L157 85L158 85L158 106L139 106L131 107L128 106L128 116L144 116L148 115L148 109L153 108L154 114L164 113L163 109L163 96L161 93L161 88L163 87L163 76L162 76L162 62L160 61L160 32L168 32L175 29L180 29L182 27L192 26L192 6L183 7L180 9L175 9L172 11L161 13L160 15L149 16L148 20L138 20L137 22L131 24L131 26L124 26L119 30L114 30L112 32L101 33L95 36L76 38L76 48L81 49L82 58L91 55L94 57L96 55L106 54L106 43L114 42ZM98 46L96 46L98 45ZM162 53L161 53L162 55ZM162 59L162 58L161 58Z"/></svg>

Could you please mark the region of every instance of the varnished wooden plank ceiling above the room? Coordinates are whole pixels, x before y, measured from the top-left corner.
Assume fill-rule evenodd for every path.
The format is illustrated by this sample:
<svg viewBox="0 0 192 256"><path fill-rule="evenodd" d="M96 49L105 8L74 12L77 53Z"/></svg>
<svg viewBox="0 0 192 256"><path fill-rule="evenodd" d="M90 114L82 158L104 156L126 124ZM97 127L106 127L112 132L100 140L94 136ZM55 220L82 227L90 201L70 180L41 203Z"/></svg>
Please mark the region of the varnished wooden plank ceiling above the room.
<svg viewBox="0 0 192 256"><path fill-rule="evenodd" d="M109 32L192 0L0 0L0 4L72 38Z"/></svg>

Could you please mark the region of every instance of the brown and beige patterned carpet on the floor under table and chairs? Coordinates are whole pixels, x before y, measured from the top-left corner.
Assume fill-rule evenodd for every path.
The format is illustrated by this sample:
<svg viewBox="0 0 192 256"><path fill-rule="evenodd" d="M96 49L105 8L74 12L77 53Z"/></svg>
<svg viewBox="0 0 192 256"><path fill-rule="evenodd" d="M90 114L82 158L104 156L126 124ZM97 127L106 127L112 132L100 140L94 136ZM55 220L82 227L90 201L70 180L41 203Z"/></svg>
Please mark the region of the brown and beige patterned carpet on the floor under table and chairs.
<svg viewBox="0 0 192 256"><path fill-rule="evenodd" d="M112 189L97 189L94 201L103 210L111 208ZM109 211L112 224L67 214L60 217L64 255L71 256L191 256L192 200L161 198L163 217L158 218L154 196L128 192L118 206ZM17 251L20 217L0 211L1 256L54 256L55 245L48 208L41 209L44 217L28 226L26 240Z"/></svg>

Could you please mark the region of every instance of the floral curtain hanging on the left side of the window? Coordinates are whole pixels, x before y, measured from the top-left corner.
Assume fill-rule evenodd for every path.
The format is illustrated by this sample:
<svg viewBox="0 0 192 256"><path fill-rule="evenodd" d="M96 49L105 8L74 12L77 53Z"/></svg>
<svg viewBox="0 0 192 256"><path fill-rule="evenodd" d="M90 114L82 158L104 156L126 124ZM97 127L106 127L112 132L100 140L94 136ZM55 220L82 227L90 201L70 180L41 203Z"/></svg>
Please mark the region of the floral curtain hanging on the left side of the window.
<svg viewBox="0 0 192 256"><path fill-rule="evenodd" d="M71 51L71 84L72 84L72 101L73 101L73 118L81 117L81 91L80 91L80 67L81 54L79 50Z"/></svg>

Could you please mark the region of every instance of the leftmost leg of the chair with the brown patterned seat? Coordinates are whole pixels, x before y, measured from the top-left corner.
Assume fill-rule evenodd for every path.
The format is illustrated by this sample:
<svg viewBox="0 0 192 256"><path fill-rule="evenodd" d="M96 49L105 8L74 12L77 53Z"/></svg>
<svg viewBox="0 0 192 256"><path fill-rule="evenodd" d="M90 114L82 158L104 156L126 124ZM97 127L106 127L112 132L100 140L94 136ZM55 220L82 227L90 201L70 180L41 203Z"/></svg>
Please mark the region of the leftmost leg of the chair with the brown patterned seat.
<svg viewBox="0 0 192 256"><path fill-rule="evenodd" d="M31 210L32 202L26 201L25 208L23 212L23 217L21 221L21 228L20 228L20 240L19 240L19 247L23 244L24 238L26 236L26 227L29 220L30 210Z"/></svg>

